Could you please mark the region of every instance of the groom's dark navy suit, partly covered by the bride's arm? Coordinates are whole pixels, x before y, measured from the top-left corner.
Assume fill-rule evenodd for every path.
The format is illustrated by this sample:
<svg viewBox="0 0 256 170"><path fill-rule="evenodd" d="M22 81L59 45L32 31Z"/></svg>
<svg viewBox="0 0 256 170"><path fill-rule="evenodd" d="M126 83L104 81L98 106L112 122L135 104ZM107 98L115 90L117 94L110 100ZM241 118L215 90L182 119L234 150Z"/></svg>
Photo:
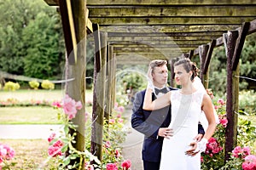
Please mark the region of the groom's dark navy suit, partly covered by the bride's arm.
<svg viewBox="0 0 256 170"><path fill-rule="evenodd" d="M169 88L176 90L177 88ZM171 106L156 111L144 111L145 90L135 95L132 108L131 126L144 134L143 166L144 170L159 170L163 137L158 136L160 127L168 127L171 122ZM152 94L152 99L156 97ZM198 132L204 134L201 124Z"/></svg>

